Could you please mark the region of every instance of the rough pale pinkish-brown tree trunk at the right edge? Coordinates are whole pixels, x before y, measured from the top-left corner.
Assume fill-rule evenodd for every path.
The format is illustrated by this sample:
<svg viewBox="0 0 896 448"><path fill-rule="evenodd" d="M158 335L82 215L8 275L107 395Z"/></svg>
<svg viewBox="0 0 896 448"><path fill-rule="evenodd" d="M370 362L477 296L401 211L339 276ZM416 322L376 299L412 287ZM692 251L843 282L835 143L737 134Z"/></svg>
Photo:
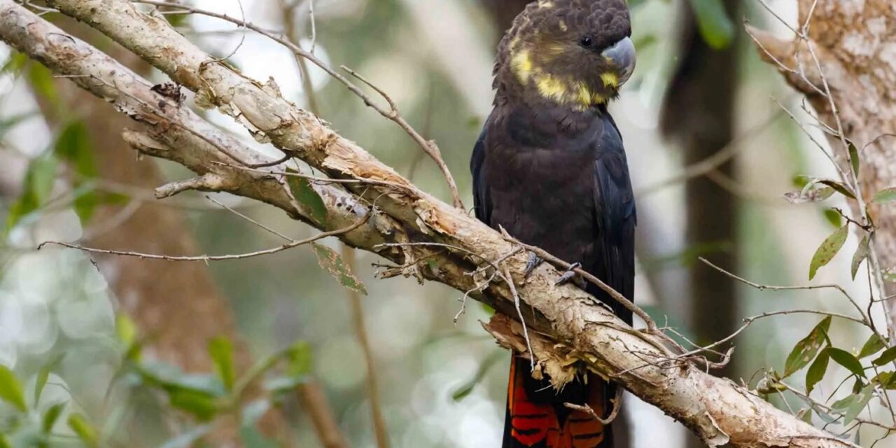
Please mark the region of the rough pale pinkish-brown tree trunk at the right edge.
<svg viewBox="0 0 896 448"><path fill-rule="evenodd" d="M858 180L865 201L870 202L876 192L896 186L896 138L892 136L896 134L896 4L891 0L818 0L817 4L798 0L798 4L797 30L809 22L808 43L814 47L817 65L802 39L781 40L760 30L751 33L766 61L806 94L824 124L837 129L830 100L806 81L822 90L825 82L830 86L843 132L859 151ZM810 12L813 16L807 21ZM797 73L782 69L769 56ZM799 72L806 73L806 79ZM849 172L849 153L840 138L826 135L840 167ZM850 203L859 219L857 203ZM892 270L896 267L896 207L869 203L868 212L878 227L874 247L880 267ZM887 283L885 289L887 296L896 294L896 284ZM891 298L887 307L891 322L896 321L896 300Z"/></svg>

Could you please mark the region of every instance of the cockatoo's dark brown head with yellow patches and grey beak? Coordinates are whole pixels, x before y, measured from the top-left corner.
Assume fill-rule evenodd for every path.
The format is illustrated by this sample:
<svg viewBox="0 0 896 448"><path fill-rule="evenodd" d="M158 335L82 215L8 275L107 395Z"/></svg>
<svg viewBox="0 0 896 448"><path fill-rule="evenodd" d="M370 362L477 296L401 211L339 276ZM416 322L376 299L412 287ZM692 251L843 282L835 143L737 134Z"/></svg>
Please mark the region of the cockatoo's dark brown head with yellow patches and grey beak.
<svg viewBox="0 0 896 448"><path fill-rule="evenodd" d="M495 63L499 97L585 109L616 98L634 71L625 0L538 0L513 21Z"/></svg>

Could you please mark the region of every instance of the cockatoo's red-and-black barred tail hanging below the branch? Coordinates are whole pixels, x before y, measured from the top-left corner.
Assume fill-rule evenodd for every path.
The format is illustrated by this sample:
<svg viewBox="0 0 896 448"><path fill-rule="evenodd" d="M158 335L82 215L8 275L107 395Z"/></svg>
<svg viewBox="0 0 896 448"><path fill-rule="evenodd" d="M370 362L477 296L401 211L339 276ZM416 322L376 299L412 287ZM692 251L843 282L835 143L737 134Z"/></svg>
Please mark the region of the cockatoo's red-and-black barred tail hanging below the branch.
<svg viewBox="0 0 896 448"><path fill-rule="evenodd" d="M606 448L613 446L610 426L564 403L589 405L606 418L614 396L613 384L586 374L556 392L548 380L530 375L530 361L513 354L507 387L502 448Z"/></svg>

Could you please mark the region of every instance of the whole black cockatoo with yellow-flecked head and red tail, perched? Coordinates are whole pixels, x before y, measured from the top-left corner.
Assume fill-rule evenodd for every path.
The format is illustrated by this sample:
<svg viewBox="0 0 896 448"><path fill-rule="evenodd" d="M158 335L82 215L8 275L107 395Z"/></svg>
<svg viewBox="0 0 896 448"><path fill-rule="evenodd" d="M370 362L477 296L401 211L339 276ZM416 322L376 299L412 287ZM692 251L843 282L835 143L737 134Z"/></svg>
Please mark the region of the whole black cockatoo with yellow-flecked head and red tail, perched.
<svg viewBox="0 0 896 448"><path fill-rule="evenodd" d="M498 47L494 109L470 168L476 216L605 281L634 289L632 185L622 137L607 103L634 70L625 0L540 0L514 20ZM632 314L603 290L590 294L625 322ZM582 374L562 390L513 356L504 448L612 446L603 418L615 386Z"/></svg>

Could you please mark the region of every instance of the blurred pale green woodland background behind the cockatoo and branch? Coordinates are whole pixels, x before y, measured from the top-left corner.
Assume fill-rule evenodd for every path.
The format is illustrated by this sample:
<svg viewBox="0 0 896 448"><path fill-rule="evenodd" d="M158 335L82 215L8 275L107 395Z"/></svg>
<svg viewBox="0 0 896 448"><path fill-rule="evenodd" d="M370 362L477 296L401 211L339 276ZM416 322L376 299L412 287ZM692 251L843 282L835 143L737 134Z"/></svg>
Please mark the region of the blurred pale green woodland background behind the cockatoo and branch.
<svg viewBox="0 0 896 448"><path fill-rule="evenodd" d="M468 160L490 107L495 44L526 2L316 0L314 34L307 2L188 3L245 13L375 82L411 125L439 143L471 203ZM826 300L831 294L823 291L747 289L697 262L707 257L762 283L805 283L815 248L840 227L839 216L821 205L781 198L802 186L797 176L833 172L773 100L797 110L799 98L744 39L745 18L772 29L775 23L753 2L630 4L638 70L611 109L639 201L636 302L699 342L728 335L748 315L848 306ZM794 2L769 4L795 19ZM108 40L58 14L45 17L165 81ZM212 54L232 53L231 63L249 76L273 76L287 98L449 199L414 142L323 72L312 67L303 83L297 61L270 41L207 17L168 18ZM136 159L117 139L126 119L79 97L42 66L2 45L0 63L0 446L321 446L308 412L318 389L345 437L327 446L376 446L352 302L310 247L176 266L36 250L63 240L153 254L238 254L281 241L202 194L153 200L152 187L188 173ZM228 117L205 115L277 154ZM728 162L698 175L685 170L719 152ZM314 234L262 204L212 197L289 237ZM325 245L338 250L334 241ZM857 241L849 237L847 245ZM866 296L867 284L849 279L843 258L832 263L837 269L820 272L821 281L841 281ZM355 273L367 291L361 304L389 443L497 446L509 354L479 328L488 311L468 306L455 323L461 293L375 280L377 262L359 253ZM787 316L755 323L736 340L737 361L723 373L753 381L763 367L784 370L790 348L817 322ZM847 324L834 329L839 325L841 347L866 340ZM773 398L782 406L784 399ZM694 444L682 427L633 397L625 412L631 446Z"/></svg>

